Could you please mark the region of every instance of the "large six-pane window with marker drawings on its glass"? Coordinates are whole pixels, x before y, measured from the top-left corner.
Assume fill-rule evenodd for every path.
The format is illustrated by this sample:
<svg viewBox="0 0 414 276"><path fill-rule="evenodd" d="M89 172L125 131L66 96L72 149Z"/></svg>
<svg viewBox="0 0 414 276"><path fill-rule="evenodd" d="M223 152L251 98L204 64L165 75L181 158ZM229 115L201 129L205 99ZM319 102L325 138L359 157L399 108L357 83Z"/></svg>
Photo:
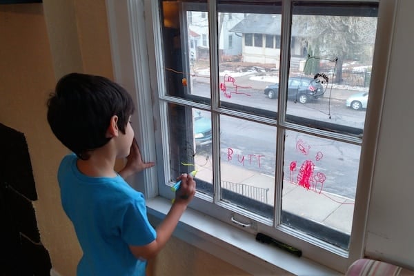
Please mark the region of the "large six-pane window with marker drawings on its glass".
<svg viewBox="0 0 414 276"><path fill-rule="evenodd" d="M161 115L159 175L168 184L161 181L160 195L172 197L177 175L197 170L197 210L304 248L317 262L346 262L360 246L350 241L366 115L347 99L370 93L377 3L158 4L158 75L151 78ZM188 12L208 46L195 60L188 56ZM230 12L234 22L218 20ZM202 14L209 20L197 19ZM219 36L230 34L256 47L232 39L239 51L232 55L241 58L220 61L226 49ZM275 37L277 50L257 48L263 37L266 48Z"/></svg>

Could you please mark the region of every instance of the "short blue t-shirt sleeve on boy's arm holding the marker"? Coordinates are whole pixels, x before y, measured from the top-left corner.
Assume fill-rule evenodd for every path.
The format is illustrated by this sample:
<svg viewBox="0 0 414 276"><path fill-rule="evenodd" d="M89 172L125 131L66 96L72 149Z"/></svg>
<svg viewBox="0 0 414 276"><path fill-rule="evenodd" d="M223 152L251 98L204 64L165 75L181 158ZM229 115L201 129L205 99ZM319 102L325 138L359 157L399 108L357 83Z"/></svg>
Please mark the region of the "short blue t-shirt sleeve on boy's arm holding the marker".
<svg viewBox="0 0 414 276"><path fill-rule="evenodd" d="M121 237L132 246L144 246L150 244L157 237L157 232L148 221L144 197L131 199L126 206Z"/></svg>

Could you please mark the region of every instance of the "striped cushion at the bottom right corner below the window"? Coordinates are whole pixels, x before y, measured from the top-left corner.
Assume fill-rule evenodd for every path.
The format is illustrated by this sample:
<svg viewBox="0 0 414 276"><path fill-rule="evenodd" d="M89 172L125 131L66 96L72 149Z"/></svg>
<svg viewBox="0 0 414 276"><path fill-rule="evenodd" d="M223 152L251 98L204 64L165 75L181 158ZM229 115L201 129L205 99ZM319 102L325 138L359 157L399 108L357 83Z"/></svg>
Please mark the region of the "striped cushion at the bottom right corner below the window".
<svg viewBox="0 0 414 276"><path fill-rule="evenodd" d="M402 268L374 259L358 259L346 271L346 276L398 276Z"/></svg>

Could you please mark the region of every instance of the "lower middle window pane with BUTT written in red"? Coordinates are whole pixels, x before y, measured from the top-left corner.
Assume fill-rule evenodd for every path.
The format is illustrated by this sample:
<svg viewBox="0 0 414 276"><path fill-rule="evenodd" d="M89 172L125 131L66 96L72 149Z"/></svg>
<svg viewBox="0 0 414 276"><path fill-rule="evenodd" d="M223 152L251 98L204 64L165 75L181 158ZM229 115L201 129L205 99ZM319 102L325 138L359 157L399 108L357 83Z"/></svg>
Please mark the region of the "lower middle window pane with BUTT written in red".
<svg viewBox="0 0 414 276"><path fill-rule="evenodd" d="M273 219L275 141L275 127L220 116L222 200Z"/></svg>

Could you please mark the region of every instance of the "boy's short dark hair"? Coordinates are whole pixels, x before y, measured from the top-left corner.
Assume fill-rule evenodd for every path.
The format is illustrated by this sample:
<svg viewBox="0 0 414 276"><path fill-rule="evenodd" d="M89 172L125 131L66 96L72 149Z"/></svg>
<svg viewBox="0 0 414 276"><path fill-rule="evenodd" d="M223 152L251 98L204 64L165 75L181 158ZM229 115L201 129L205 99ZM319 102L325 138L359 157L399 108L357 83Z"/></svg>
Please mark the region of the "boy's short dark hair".
<svg viewBox="0 0 414 276"><path fill-rule="evenodd" d="M128 92L105 77L71 73L63 76L48 99L48 122L57 139L83 160L108 143L110 118L125 134L134 103Z"/></svg>

